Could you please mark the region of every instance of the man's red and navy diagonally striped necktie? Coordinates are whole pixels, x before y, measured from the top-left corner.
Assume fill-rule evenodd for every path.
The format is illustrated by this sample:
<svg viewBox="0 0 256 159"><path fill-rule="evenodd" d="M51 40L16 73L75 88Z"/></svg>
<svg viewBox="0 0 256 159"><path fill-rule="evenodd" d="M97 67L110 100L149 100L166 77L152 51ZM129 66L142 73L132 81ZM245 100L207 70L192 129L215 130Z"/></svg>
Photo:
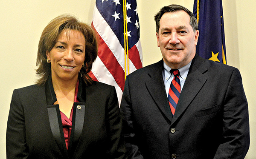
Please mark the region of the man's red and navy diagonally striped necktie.
<svg viewBox="0 0 256 159"><path fill-rule="evenodd" d="M174 75L174 78L170 85L168 100L172 111L172 115L174 115L178 100L180 98L180 77L178 76L179 70L171 69L170 72Z"/></svg>

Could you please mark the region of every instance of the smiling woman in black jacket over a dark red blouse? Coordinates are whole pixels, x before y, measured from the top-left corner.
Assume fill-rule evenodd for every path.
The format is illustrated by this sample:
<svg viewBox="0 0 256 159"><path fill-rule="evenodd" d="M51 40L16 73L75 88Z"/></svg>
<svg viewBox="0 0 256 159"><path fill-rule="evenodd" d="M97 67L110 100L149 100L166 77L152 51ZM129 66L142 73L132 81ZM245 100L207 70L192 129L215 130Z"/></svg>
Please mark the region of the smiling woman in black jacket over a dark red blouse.
<svg viewBox="0 0 256 159"><path fill-rule="evenodd" d="M125 158L115 88L88 76L97 51L93 29L72 16L44 28L37 84L12 95L7 159Z"/></svg>

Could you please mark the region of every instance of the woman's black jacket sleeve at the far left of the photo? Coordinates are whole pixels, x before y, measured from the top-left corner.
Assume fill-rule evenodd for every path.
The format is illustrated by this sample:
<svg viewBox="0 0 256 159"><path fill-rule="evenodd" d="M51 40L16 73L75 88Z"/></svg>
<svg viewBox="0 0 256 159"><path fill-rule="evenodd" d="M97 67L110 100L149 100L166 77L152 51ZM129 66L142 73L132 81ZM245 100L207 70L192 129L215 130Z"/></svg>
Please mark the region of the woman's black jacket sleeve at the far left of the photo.
<svg viewBox="0 0 256 159"><path fill-rule="evenodd" d="M26 144L24 110L17 90L13 91L7 122L6 157L7 159L27 159L29 157L29 148Z"/></svg>

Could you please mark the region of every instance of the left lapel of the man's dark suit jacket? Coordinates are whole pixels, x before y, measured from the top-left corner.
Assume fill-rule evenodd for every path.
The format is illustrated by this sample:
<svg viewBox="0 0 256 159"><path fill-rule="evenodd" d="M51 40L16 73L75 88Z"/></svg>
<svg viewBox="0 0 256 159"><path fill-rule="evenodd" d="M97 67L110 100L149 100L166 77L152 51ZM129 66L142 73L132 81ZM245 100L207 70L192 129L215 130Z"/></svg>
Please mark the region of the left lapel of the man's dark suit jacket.
<svg viewBox="0 0 256 159"><path fill-rule="evenodd" d="M148 72L148 80L145 82L149 94L154 102L163 112L169 121L172 121L172 113L166 96L165 86L163 83L163 60L157 62L155 67Z"/></svg>

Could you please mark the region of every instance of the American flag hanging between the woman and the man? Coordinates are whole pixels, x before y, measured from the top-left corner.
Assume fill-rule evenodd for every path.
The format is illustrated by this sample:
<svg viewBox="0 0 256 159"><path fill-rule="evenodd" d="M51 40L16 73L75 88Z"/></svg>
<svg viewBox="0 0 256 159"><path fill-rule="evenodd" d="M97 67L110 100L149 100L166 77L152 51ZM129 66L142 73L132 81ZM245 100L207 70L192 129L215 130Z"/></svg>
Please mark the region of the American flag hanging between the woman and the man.
<svg viewBox="0 0 256 159"><path fill-rule="evenodd" d="M136 0L96 0L92 27L99 51L90 77L115 86L120 105L125 77L143 62Z"/></svg>

